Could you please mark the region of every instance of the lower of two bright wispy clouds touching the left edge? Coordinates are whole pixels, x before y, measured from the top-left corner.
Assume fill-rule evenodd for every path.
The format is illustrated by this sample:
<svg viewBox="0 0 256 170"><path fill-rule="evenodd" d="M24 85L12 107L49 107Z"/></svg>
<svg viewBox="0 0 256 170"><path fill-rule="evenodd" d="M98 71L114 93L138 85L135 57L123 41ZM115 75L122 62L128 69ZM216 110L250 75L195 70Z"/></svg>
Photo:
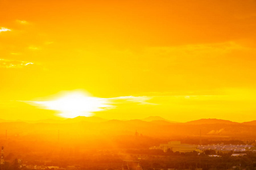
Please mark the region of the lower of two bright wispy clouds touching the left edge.
<svg viewBox="0 0 256 170"><path fill-rule="evenodd" d="M22 67L26 67L27 65L33 65L33 64L34 63L32 63L32 62L0 58L0 67L6 68L6 69L12 69L12 68L20 69Z"/></svg>

